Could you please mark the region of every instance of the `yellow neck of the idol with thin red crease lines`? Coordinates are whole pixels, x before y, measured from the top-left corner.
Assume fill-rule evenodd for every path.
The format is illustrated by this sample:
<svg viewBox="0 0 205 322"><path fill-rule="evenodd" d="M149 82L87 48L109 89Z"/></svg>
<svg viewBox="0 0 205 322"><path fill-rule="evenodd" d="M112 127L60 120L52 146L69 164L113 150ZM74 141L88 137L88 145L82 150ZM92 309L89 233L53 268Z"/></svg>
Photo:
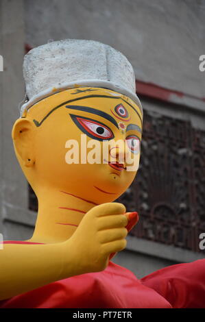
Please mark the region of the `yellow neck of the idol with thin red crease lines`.
<svg viewBox="0 0 205 322"><path fill-rule="evenodd" d="M35 243L60 243L69 239L83 216L97 206L91 200L62 190L38 193L38 217L32 238Z"/></svg>

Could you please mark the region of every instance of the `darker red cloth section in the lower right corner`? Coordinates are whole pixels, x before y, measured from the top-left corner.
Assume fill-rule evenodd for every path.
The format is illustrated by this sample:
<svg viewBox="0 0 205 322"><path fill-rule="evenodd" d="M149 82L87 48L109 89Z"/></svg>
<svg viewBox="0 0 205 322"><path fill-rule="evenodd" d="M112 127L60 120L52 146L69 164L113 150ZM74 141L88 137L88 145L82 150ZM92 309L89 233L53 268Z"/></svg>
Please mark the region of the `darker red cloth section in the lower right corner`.
<svg viewBox="0 0 205 322"><path fill-rule="evenodd" d="M173 308L205 308L205 258L165 267L141 282L154 288Z"/></svg>

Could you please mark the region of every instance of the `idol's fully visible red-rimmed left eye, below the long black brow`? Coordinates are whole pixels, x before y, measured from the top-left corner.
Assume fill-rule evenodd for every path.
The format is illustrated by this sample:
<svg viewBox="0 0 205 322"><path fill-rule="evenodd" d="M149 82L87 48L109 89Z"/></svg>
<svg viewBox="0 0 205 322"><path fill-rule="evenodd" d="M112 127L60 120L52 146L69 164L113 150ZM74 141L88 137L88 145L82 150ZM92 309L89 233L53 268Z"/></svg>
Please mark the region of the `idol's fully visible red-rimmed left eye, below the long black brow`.
<svg viewBox="0 0 205 322"><path fill-rule="evenodd" d="M75 125L81 129L84 134L96 140L111 140L114 134L111 129L99 121L88 119L87 117L70 114Z"/></svg>

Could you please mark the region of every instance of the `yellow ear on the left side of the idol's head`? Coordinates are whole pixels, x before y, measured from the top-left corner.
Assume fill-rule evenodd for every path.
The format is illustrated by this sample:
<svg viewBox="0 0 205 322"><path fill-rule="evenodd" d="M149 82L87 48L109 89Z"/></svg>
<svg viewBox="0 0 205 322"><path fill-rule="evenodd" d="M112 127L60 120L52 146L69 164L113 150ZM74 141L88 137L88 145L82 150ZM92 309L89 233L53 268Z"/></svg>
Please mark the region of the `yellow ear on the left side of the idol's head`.
<svg viewBox="0 0 205 322"><path fill-rule="evenodd" d="M35 125L28 119L18 119L12 129L12 139L16 156L24 166L34 166Z"/></svg>

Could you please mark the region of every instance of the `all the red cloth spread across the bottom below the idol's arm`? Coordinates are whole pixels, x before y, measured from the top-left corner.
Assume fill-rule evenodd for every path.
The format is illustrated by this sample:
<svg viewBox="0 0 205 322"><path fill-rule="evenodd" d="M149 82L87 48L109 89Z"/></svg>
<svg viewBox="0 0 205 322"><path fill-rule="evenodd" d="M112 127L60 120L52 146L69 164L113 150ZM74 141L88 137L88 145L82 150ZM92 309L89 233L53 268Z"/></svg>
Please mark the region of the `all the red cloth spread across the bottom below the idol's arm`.
<svg viewBox="0 0 205 322"><path fill-rule="evenodd" d="M0 308L172 307L205 308L205 259L172 265L141 280L109 262L104 271L69 277L0 302Z"/></svg>

